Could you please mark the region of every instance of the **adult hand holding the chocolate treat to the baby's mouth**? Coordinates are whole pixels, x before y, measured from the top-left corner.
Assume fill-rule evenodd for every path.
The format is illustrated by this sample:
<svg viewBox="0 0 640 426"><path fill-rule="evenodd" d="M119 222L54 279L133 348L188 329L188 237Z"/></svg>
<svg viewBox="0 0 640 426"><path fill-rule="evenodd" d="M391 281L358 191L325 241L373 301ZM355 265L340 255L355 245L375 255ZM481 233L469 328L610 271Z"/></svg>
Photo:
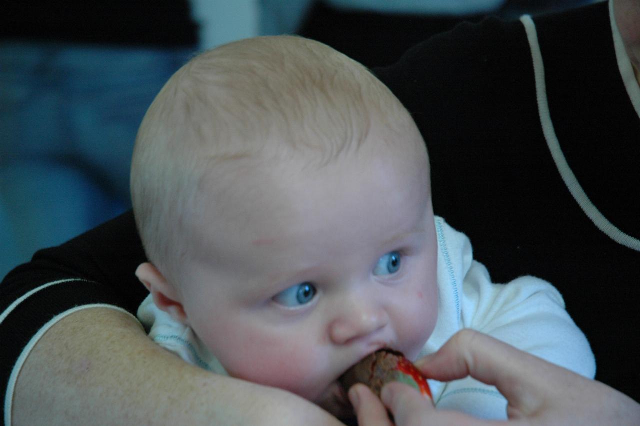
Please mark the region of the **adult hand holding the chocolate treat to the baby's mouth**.
<svg viewBox="0 0 640 426"><path fill-rule="evenodd" d="M637 425L640 404L597 381L522 352L476 331L455 334L435 354L416 363L427 376L451 381L471 375L507 398L509 424ZM363 385L349 390L361 426L497 425L462 413L438 411L415 389L401 383L382 388L381 402ZM383 405L384 404L384 405Z"/></svg>

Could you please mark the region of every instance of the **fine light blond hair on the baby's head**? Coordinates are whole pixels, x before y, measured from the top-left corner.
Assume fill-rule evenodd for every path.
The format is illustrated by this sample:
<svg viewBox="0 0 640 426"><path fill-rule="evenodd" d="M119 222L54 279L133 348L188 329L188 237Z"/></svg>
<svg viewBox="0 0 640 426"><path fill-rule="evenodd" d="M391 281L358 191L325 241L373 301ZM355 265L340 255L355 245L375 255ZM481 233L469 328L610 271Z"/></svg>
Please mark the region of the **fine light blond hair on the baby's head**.
<svg viewBox="0 0 640 426"><path fill-rule="evenodd" d="M148 259L169 281L197 245L192 212L207 185L244 159L323 164L364 142L372 120L401 133L410 117L360 63L319 42L257 37L180 68L136 137L131 196ZM216 173L218 170L218 173Z"/></svg>

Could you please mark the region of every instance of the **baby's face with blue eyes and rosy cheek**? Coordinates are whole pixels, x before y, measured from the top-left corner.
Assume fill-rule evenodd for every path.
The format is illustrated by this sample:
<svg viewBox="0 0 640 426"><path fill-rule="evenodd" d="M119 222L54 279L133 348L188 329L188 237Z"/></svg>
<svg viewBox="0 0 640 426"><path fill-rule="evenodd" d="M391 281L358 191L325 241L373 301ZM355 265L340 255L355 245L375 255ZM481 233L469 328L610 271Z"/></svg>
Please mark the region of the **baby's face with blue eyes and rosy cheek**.
<svg viewBox="0 0 640 426"><path fill-rule="evenodd" d="M256 163L203 204L207 243L180 292L230 375L317 402L378 348L417 356L436 323L437 253L426 153L408 133L389 147L398 136L372 129L323 167Z"/></svg>

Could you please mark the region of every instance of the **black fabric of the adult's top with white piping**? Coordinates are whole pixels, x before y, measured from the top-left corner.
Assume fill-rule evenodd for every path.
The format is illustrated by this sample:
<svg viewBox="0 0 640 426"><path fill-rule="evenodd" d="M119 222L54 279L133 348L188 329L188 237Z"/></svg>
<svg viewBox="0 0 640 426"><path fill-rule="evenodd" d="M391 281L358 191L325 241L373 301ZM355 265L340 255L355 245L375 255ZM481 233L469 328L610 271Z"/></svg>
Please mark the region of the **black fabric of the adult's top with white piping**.
<svg viewBox="0 0 640 426"><path fill-rule="evenodd" d="M639 238L640 119L618 72L607 4L536 25L568 163L605 217ZM561 180L540 126L522 24L461 24L376 73L426 140L436 214L468 234L494 282L532 274L554 284L593 347L596 378L640 400L640 253L600 232ZM147 295L134 276L144 260L127 212L7 275L5 313L42 284L87 281L53 284L10 309L0 327L3 393L20 351L56 313L93 302L135 313Z"/></svg>

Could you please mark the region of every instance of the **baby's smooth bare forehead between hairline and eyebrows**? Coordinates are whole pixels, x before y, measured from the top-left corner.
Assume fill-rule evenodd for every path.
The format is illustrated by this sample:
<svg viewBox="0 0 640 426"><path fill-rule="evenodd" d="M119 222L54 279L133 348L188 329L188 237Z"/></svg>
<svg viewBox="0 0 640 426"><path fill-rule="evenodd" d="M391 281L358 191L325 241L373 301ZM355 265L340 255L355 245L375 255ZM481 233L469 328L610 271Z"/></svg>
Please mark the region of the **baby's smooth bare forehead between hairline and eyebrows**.
<svg viewBox="0 0 640 426"><path fill-rule="evenodd" d="M420 227L429 202L424 165L406 167L411 160L391 151L372 152L376 158L356 152L320 168L256 163L229 177L227 189L198 208L206 212L196 223L199 252L220 265L250 256L264 262L257 268L276 264L284 272L291 259L304 264L386 247ZM254 258L255 250L264 258Z"/></svg>

